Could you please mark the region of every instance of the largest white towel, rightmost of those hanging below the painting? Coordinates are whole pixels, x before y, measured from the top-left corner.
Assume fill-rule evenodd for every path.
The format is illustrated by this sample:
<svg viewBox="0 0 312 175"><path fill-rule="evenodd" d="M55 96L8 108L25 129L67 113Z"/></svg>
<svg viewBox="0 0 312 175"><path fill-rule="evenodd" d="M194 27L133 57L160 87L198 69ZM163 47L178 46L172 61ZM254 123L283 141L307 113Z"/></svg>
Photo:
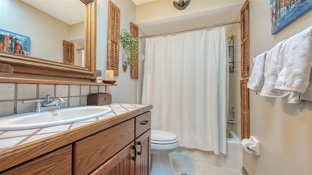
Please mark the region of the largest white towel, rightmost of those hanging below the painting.
<svg viewBox="0 0 312 175"><path fill-rule="evenodd" d="M284 42L274 89L304 93L309 86L311 67L312 26Z"/></svg>

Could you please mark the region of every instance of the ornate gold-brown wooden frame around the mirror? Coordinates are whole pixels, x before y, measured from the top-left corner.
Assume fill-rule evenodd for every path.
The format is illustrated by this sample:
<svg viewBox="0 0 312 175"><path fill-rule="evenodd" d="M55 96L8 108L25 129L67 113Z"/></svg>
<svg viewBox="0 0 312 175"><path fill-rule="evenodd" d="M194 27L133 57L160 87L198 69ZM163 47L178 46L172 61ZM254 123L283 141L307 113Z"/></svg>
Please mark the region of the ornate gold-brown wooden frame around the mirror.
<svg viewBox="0 0 312 175"><path fill-rule="evenodd" d="M85 67L0 51L0 63L9 64L14 73L66 78L95 79L96 64L96 0L80 0L85 4Z"/></svg>

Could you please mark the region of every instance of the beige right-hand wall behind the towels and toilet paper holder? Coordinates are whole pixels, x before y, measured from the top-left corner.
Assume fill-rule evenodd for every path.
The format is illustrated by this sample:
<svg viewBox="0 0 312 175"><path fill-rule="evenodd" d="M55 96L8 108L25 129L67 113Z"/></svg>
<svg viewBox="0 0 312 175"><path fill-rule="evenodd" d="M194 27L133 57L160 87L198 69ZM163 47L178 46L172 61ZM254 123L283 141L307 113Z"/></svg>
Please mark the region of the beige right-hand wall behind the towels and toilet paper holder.
<svg viewBox="0 0 312 175"><path fill-rule="evenodd" d="M252 59L312 25L312 11L271 35L270 0L250 0ZM244 152L249 175L312 175L312 101L283 104L280 98L249 92L250 134L260 141L261 156Z"/></svg>

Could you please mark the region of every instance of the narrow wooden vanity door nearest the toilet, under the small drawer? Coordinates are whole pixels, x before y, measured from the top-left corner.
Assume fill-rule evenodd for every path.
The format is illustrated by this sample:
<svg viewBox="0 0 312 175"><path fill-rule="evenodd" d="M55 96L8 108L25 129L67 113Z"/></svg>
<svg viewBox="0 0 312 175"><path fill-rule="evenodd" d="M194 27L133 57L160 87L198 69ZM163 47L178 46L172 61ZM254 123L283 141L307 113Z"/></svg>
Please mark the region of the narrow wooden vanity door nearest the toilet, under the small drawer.
<svg viewBox="0 0 312 175"><path fill-rule="evenodd" d="M151 172L151 129L137 137L136 175L150 175Z"/></svg>

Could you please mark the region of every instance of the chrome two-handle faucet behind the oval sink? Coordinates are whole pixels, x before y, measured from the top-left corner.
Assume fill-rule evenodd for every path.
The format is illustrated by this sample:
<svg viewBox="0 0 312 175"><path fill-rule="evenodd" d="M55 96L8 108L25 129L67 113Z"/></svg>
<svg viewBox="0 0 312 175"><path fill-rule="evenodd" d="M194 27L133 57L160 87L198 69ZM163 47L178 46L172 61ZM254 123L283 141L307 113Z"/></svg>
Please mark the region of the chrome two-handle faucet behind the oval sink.
<svg viewBox="0 0 312 175"><path fill-rule="evenodd" d="M23 104L28 103L28 102L36 102L36 107L33 109L33 113L39 113L43 111L52 111L52 110L57 110L60 109L59 103L65 102L67 100L67 97L64 98L53 98L53 101L50 100L51 96L46 96L47 100L42 102L43 99L35 99L35 100L22 100L21 102Z"/></svg>

